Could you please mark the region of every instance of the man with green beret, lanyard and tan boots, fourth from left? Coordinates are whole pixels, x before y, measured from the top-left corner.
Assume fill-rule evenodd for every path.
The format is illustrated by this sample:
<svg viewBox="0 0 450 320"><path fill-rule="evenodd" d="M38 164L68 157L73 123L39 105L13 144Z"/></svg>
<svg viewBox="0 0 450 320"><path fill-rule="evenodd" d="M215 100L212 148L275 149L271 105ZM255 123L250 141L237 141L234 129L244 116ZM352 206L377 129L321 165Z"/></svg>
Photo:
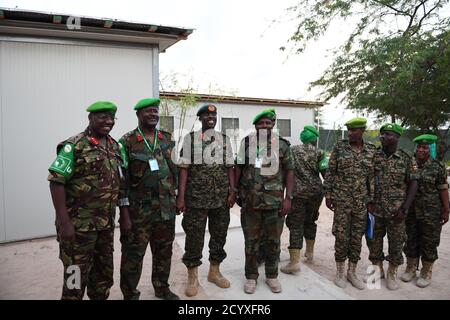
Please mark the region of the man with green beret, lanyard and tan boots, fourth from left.
<svg viewBox="0 0 450 320"><path fill-rule="evenodd" d="M289 142L272 132L275 114L263 111L253 120L256 133L241 141L236 181L245 237L246 293L254 293L258 279L258 251L266 235L266 283L272 292L281 292L278 277L280 236L284 216L291 209L294 164ZM283 199L286 189L286 198Z"/></svg>

